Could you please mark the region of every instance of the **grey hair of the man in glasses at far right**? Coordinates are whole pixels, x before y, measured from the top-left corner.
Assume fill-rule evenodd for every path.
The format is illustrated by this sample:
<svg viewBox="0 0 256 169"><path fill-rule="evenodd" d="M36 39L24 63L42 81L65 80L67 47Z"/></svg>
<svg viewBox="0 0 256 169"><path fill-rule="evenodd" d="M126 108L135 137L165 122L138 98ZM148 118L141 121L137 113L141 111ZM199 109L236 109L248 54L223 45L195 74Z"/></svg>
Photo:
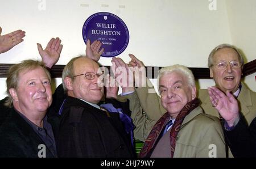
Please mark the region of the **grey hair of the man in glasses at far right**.
<svg viewBox="0 0 256 169"><path fill-rule="evenodd" d="M208 67L210 68L213 65L213 56L214 54L217 52L218 49L224 49L224 48L231 48L234 49L237 54L238 54L238 60L241 62L242 67L243 67L243 57L241 55L241 53L238 51L238 49L234 46L234 45L230 45L230 44L221 44L218 45L217 47L215 47L212 52L210 52L209 57L208 57Z"/></svg>

